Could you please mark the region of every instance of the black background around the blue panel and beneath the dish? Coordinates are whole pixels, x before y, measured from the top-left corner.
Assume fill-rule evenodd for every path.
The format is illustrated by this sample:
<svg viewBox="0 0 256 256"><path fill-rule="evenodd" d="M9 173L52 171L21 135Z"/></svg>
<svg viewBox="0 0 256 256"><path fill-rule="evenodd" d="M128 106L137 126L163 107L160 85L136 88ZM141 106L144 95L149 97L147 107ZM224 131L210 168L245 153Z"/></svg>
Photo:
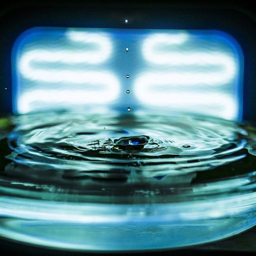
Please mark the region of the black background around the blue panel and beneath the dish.
<svg viewBox="0 0 256 256"><path fill-rule="evenodd" d="M12 112L11 50L16 38L35 26L217 29L233 36L244 52L243 118L256 123L256 8L250 1L10 0L0 4L0 115ZM124 24L125 19L129 20ZM4 88L7 88L5 90ZM256 251L256 228L235 238L183 250L144 255L242 254ZM0 240L2 255L89 255ZM255 254L255 252L254 252ZM93 254L102 255L102 254ZM118 254L120 255L120 254ZM124 255L124 254L123 254ZM127 255L127 253L126 253ZM135 256L141 254L133 254Z"/></svg>

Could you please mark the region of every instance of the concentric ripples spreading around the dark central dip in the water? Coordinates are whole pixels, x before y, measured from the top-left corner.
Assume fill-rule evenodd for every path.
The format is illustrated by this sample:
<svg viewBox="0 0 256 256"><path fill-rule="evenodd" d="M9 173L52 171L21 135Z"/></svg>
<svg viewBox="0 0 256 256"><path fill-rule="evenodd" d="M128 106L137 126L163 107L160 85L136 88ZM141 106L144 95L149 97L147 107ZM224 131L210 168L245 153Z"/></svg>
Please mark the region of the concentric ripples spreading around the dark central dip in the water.
<svg viewBox="0 0 256 256"><path fill-rule="evenodd" d="M244 149L253 148L248 141L254 144L235 122L185 114L64 112L14 116L12 122L16 128L8 144L13 151L7 156L12 163L5 172L35 184L66 184L72 178L87 184L92 179L190 183L199 172L246 158Z"/></svg>

